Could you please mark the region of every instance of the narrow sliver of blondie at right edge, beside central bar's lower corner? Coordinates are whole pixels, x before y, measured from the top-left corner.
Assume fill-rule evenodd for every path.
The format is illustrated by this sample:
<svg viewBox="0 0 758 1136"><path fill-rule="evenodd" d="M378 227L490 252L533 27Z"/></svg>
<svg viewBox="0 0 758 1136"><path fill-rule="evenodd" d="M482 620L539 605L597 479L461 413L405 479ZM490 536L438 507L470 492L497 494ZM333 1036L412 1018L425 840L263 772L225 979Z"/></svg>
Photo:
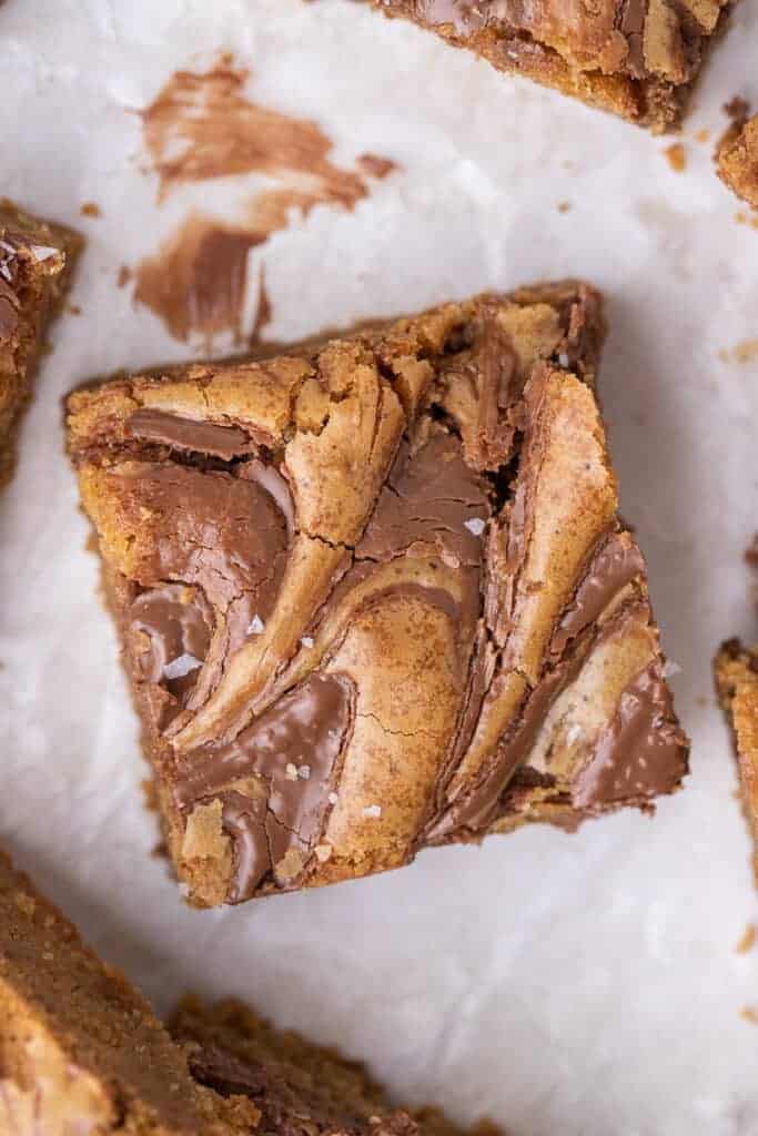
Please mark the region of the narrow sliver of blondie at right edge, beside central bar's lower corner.
<svg viewBox="0 0 758 1136"><path fill-rule="evenodd" d="M734 735L742 805L753 840L758 883L758 646L730 640L716 655L716 690Z"/></svg>

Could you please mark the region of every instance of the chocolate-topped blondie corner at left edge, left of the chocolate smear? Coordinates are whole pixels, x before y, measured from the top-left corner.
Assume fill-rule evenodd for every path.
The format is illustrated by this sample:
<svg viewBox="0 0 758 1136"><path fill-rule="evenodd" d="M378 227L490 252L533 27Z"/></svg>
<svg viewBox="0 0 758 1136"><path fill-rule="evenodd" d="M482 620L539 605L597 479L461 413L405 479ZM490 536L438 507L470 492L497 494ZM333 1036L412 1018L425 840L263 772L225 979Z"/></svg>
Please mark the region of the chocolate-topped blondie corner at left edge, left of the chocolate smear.
<svg viewBox="0 0 758 1136"><path fill-rule="evenodd" d="M0 200L0 484L13 469L18 415L45 324L60 306L80 248L70 229Z"/></svg>

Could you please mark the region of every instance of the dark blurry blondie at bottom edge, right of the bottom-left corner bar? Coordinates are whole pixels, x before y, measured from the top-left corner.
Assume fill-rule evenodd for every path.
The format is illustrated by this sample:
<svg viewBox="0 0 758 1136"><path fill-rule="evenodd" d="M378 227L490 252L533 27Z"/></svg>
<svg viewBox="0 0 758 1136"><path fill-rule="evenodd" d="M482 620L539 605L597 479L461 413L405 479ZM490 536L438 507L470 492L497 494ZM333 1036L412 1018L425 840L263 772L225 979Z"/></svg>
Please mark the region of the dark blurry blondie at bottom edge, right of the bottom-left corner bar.
<svg viewBox="0 0 758 1136"><path fill-rule="evenodd" d="M168 1028L186 1046L198 1081L223 1095L243 1094L255 1103L261 1133L456 1136L458 1131L435 1110L394 1108L363 1066L274 1029L241 1002L207 1006L189 997ZM486 1122L475 1131L498 1133Z"/></svg>

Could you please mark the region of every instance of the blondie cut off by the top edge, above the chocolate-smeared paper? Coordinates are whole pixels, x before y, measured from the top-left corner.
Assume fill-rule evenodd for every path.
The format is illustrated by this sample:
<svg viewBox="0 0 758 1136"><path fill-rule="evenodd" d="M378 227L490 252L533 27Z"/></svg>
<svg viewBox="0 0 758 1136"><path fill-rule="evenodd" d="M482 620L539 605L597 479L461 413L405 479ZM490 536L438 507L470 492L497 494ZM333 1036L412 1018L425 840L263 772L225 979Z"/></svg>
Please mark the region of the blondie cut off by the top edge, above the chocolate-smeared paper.
<svg viewBox="0 0 758 1136"><path fill-rule="evenodd" d="M524 75L660 133L676 126L728 0L370 0Z"/></svg>

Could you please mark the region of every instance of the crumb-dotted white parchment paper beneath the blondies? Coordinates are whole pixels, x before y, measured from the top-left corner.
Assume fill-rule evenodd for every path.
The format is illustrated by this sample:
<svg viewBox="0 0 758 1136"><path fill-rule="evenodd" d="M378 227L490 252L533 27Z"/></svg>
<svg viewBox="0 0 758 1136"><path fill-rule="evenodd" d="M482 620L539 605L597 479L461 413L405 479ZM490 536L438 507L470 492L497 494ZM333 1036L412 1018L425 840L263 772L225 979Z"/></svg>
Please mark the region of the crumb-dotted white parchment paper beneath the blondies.
<svg viewBox="0 0 758 1136"><path fill-rule="evenodd" d="M722 638L758 630L742 561L758 527L758 359L723 356L758 337L758 231L735 222L710 162L722 103L758 100L757 9L743 0L717 49L678 174L666 142L347 0L0 9L0 187L89 241L82 314L55 328L0 502L0 842L161 1009L188 987L241 995L366 1058L399 1097L515 1136L758 1130L758 1031L740 1017L758 1005L758 950L734 952L758 902L710 677ZM263 250L272 336L542 277L607 292L601 389L623 509L693 738L686 791L652 822L534 828L205 913L151 858L59 400L89 376L197 353L116 274L207 201L200 184L158 208L133 111L220 50L251 68L257 101L316 119L336 161L373 151L402 166L353 212L316 208ZM233 210L234 179L215 208L226 191ZM84 201L102 216L80 217Z"/></svg>

